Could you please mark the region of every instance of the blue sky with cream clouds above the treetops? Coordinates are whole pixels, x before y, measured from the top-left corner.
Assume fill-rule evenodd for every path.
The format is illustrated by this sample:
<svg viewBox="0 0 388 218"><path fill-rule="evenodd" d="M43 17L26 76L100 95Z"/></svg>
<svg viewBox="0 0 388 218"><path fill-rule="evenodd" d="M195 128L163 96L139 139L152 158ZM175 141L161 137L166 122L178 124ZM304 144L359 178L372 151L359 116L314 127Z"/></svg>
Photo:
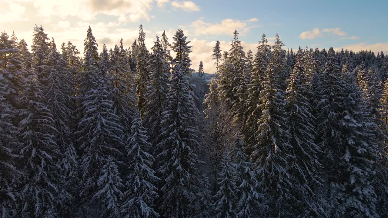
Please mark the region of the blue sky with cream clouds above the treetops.
<svg viewBox="0 0 388 218"><path fill-rule="evenodd" d="M234 29L240 32L244 50L254 52L262 33L270 42L279 33L284 48L333 46L388 54L388 1L383 0L0 0L0 5L5 5L0 31L14 30L31 44L33 26L42 24L57 45L70 40L81 53L89 25L97 42L108 47L120 38L129 47L140 24L148 48L164 29L171 39L181 28L192 41L192 67L197 69L202 60L208 73L215 71L212 46L220 40L228 50Z"/></svg>

